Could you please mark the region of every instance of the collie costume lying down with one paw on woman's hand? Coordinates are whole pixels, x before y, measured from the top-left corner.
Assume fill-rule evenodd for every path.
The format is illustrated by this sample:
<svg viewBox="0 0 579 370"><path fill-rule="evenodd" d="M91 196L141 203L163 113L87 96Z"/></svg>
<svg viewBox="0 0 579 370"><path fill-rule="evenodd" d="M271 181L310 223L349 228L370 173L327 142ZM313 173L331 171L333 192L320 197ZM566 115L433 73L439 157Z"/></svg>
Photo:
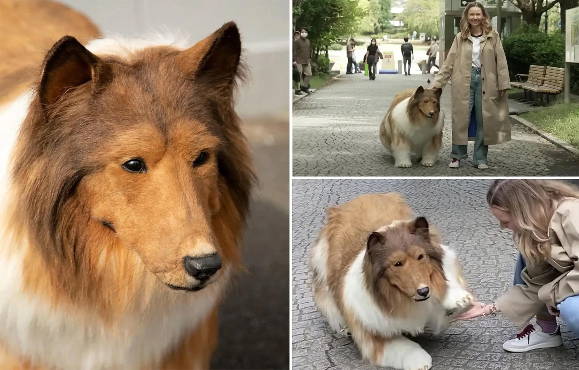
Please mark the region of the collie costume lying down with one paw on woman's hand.
<svg viewBox="0 0 579 370"><path fill-rule="evenodd" d="M367 194L328 209L309 251L314 301L332 330L351 333L364 360L430 369L416 335L435 333L473 302L455 252L402 196Z"/></svg>

